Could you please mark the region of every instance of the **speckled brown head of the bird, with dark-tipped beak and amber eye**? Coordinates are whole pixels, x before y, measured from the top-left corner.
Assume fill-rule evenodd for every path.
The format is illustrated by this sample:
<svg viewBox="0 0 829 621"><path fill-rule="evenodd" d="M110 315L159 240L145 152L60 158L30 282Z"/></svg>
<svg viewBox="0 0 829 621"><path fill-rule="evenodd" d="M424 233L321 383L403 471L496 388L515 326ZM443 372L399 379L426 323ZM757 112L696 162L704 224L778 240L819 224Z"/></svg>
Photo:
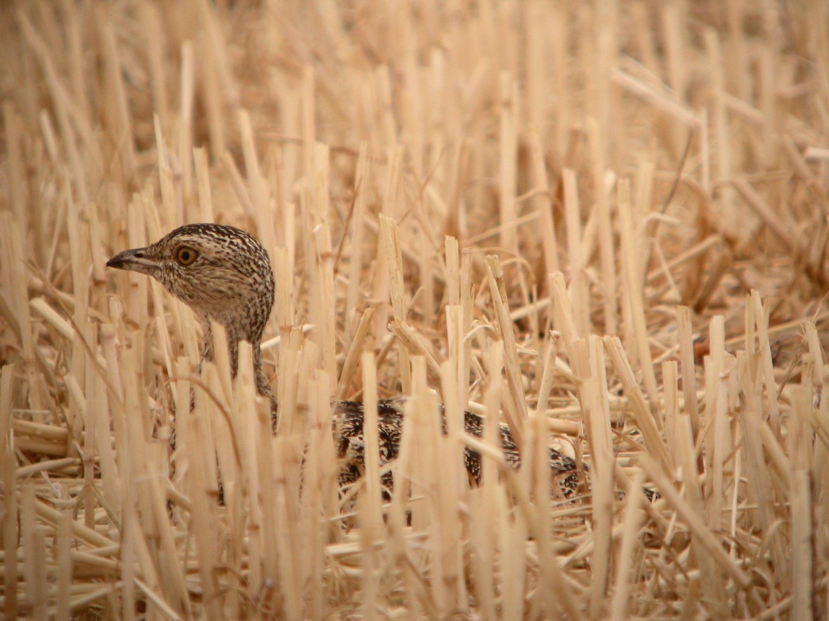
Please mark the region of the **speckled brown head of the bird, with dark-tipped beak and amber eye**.
<svg viewBox="0 0 829 621"><path fill-rule="evenodd" d="M268 252L249 233L221 224L185 224L106 264L152 276L203 319L224 325L234 349L240 339L259 349L274 306L274 272Z"/></svg>

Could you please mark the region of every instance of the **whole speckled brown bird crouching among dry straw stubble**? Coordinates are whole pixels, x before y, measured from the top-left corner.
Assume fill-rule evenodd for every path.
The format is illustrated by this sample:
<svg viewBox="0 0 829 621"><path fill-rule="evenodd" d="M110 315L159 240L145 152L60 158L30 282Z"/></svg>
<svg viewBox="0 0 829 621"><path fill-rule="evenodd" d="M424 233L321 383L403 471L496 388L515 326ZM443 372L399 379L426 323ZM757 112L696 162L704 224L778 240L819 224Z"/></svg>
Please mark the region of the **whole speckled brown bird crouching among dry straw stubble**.
<svg viewBox="0 0 829 621"><path fill-rule="evenodd" d="M211 320L225 327L230 359L230 373L238 370L239 343L250 342L256 390L271 402L274 430L279 403L269 388L262 368L260 345L265 325L274 306L274 272L268 251L254 236L226 224L185 224L167 233L145 248L132 248L116 254L106 262L114 267L153 277L183 301L205 325L201 361L213 357ZM400 451L404 421L404 402L400 398L378 402L377 421L380 439L380 463L395 460ZM442 411L443 412L443 411ZM364 472L364 407L359 402L341 401L333 408L332 430L337 455L341 461L338 484L341 489L356 483ZM446 433L442 413L443 432ZM463 428L480 438L483 419L472 412L463 413ZM521 455L509 427L499 424L501 450L507 465L521 467ZM566 498L579 489L580 470L569 455L549 448L550 469ZM481 456L468 445L464 448L464 465L470 484L482 480ZM393 488L390 471L382 475L384 496Z"/></svg>

